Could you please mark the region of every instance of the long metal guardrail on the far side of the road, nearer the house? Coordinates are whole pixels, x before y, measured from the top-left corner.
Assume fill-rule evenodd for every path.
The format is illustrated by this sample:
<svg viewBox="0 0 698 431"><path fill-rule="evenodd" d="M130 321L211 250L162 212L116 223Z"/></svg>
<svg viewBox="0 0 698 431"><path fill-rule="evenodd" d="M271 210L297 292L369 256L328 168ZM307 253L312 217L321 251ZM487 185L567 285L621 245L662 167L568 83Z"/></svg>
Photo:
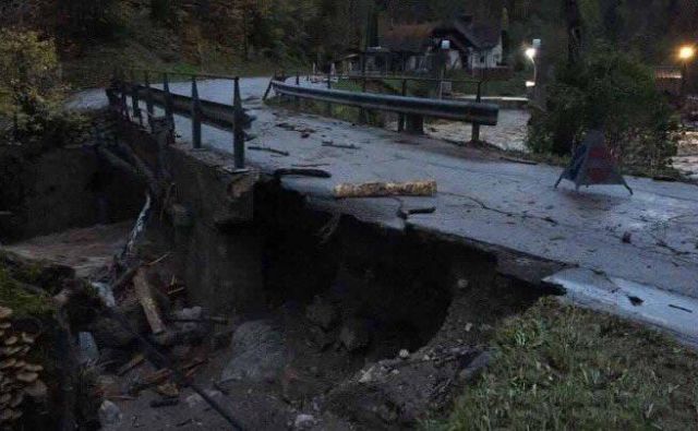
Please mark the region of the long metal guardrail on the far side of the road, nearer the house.
<svg viewBox="0 0 698 431"><path fill-rule="evenodd" d="M288 96L294 100L310 99L327 104L327 115L332 115L332 105L345 105L359 108L360 121L365 117L365 110L381 110L399 115L398 131L407 130L412 133L423 132L424 118L462 121L472 124L471 141L480 141L480 125L496 125L500 108L494 104L481 101L479 94L476 101L456 101L405 95L386 95L365 92L349 92L333 89L332 80L327 80L327 88L300 85L296 77L296 85L273 80L269 88L277 94ZM404 84L405 88L405 84ZM361 121L362 122L362 121Z"/></svg>

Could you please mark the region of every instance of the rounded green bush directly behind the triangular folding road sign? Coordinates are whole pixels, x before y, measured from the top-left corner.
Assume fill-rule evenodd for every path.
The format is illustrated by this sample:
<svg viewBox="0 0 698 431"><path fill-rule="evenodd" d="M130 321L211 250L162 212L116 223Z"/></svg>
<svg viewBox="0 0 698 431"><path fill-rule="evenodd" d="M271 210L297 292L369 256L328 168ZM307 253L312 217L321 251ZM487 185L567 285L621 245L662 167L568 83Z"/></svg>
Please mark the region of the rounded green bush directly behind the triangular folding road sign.
<svg viewBox="0 0 698 431"><path fill-rule="evenodd" d="M547 92L546 111L529 129L533 152L569 154L590 129L603 130L628 165L662 165L676 151L672 110L652 71L626 53L595 48L578 64L558 67Z"/></svg>

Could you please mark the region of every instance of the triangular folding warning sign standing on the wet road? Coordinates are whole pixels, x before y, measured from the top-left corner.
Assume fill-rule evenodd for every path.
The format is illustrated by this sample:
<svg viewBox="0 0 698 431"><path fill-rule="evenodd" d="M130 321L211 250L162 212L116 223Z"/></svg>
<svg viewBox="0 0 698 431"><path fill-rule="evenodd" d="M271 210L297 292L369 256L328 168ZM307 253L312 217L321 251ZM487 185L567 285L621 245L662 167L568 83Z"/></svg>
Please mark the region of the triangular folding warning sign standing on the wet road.
<svg viewBox="0 0 698 431"><path fill-rule="evenodd" d="M633 189L618 172L611 152L605 145L605 136L598 130L590 130L587 133L587 137L575 152L571 163L559 176L555 188L562 180L574 182L577 190L581 185L621 184L633 194Z"/></svg>

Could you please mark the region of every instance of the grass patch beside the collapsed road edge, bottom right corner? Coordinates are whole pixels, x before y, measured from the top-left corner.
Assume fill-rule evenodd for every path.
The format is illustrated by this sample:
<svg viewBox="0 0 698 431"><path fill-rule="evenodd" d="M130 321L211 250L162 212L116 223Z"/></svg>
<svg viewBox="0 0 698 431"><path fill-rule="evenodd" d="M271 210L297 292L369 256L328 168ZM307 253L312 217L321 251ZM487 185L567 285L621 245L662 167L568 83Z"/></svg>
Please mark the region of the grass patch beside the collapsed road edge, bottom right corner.
<svg viewBox="0 0 698 431"><path fill-rule="evenodd" d="M491 367L434 428L698 426L698 355L655 331L543 299L497 327L493 346Z"/></svg>

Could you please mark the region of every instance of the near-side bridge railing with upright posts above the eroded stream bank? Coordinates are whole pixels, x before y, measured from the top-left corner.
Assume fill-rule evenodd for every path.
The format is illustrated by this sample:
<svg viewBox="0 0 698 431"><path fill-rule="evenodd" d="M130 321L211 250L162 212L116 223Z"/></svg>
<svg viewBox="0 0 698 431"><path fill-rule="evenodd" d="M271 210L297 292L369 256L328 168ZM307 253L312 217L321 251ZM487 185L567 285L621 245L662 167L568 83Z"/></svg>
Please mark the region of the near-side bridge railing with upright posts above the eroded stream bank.
<svg viewBox="0 0 698 431"><path fill-rule="evenodd" d="M161 87L152 84L152 79L159 76ZM191 81L190 96L172 93L170 84L176 79L185 77ZM202 99L198 95L200 79L221 79L233 82L233 91L230 97L231 105ZM145 104L148 124L155 117L155 107L165 112L168 127L174 135L174 115L189 117L192 121L192 144L194 148L202 147L202 124L214 125L232 131L232 146L234 166L244 168L244 125L246 116L242 107L240 95L240 77L231 75L215 75L207 73L178 73L169 71L156 71L134 69L130 73L115 72L111 85L107 89L109 104L124 119L136 121L144 125L142 105ZM131 108L128 106L128 97L131 97Z"/></svg>

